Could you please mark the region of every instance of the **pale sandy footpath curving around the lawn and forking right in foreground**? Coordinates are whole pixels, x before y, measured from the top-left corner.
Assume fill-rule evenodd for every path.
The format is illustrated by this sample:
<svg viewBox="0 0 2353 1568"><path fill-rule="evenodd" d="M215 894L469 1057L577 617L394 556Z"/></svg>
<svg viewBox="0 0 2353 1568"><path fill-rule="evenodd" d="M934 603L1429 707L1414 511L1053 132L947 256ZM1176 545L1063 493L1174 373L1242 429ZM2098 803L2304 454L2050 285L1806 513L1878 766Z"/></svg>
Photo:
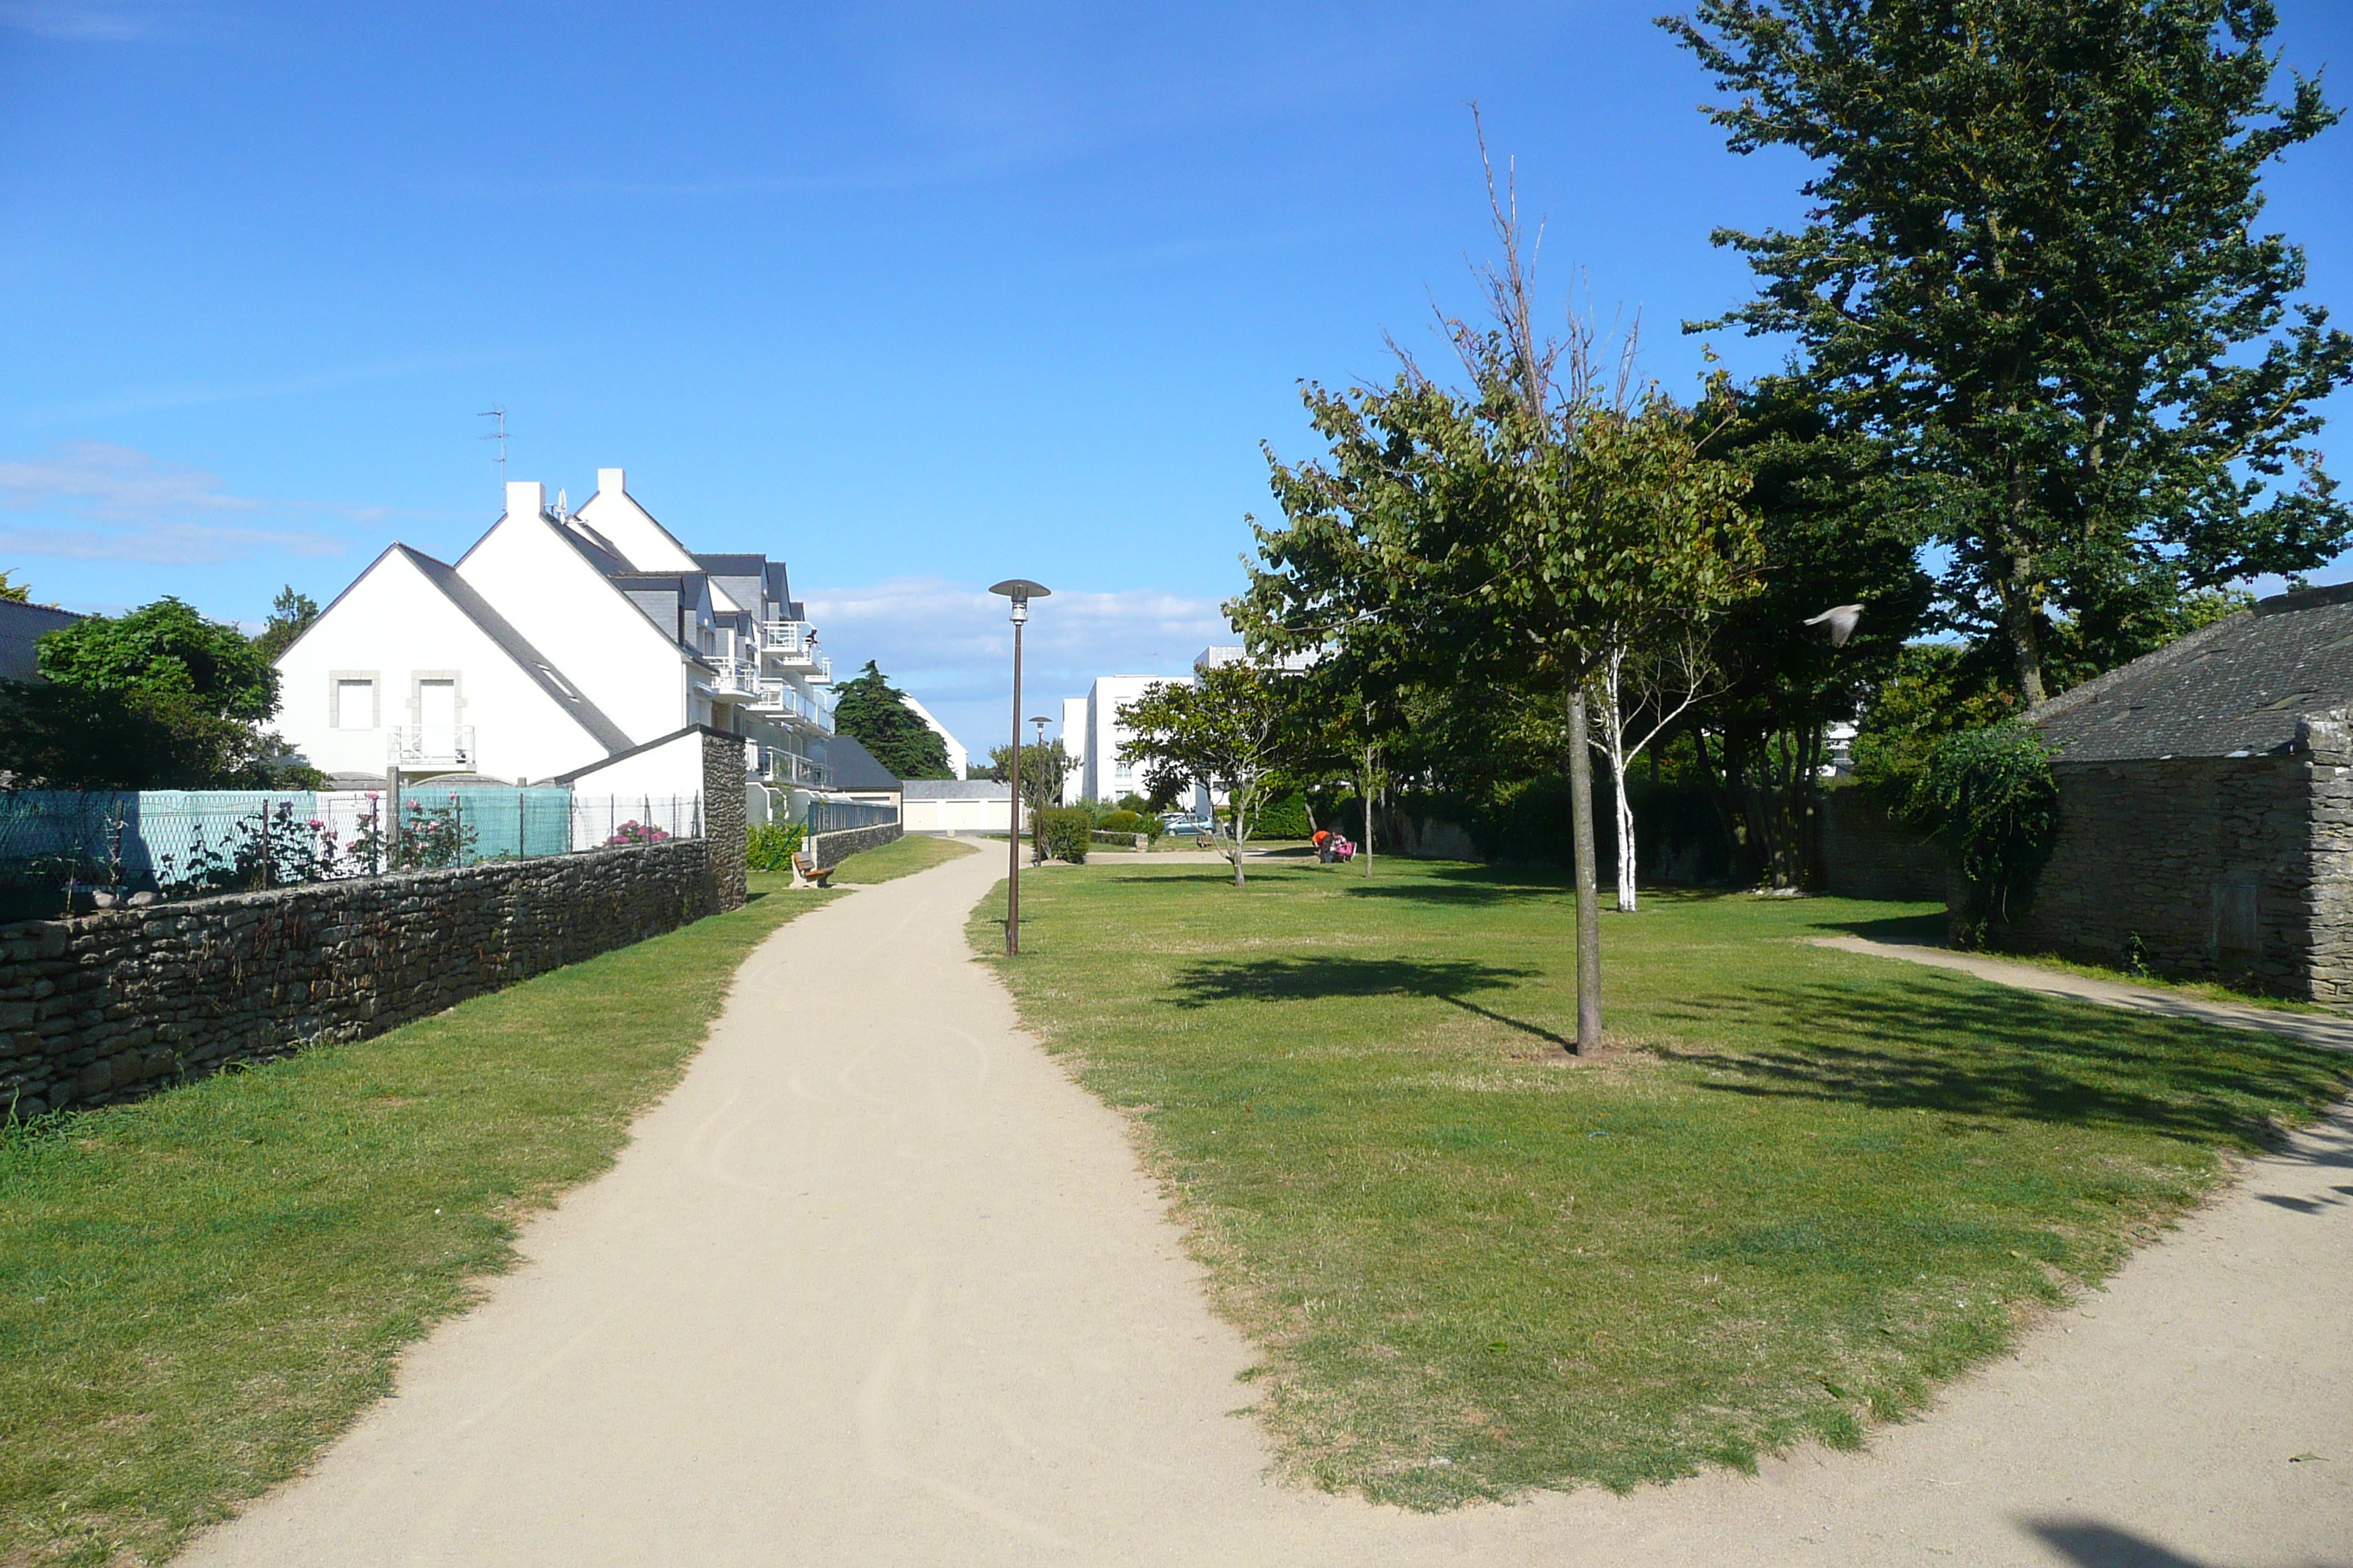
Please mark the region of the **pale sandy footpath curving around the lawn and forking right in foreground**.
<svg viewBox="0 0 2353 1568"><path fill-rule="evenodd" d="M1268 1486L1249 1347L1120 1121L965 959L995 877L955 860L779 931L525 1267L186 1561L2353 1561L2348 1121L1871 1453L1445 1516Z"/></svg>

